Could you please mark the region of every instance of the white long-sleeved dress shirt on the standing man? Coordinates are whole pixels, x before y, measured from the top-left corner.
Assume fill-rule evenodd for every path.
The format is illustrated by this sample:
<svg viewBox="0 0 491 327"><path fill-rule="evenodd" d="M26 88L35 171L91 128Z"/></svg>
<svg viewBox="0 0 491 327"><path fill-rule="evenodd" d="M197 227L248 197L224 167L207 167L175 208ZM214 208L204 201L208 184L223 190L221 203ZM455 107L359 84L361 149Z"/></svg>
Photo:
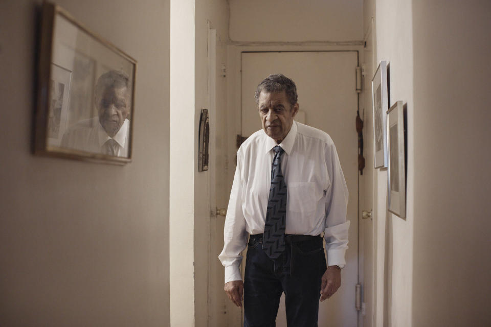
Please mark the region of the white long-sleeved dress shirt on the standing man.
<svg viewBox="0 0 491 327"><path fill-rule="evenodd" d="M225 219L225 245L218 256L225 267L225 283L242 279L240 253L247 246L249 234L264 232L276 145L261 129L237 151ZM324 231L328 266L345 265L348 188L332 139L319 129L294 121L279 146L285 151L281 170L288 190L286 233L320 235Z"/></svg>

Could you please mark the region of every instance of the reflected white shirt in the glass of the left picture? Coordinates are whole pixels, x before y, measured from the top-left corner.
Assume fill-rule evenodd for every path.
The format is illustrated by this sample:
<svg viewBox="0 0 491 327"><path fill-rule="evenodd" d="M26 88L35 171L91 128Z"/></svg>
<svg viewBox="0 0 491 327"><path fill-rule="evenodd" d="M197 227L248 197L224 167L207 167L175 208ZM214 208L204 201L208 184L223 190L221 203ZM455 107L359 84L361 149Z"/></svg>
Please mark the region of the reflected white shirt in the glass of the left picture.
<svg viewBox="0 0 491 327"><path fill-rule="evenodd" d="M61 147L92 153L105 153L103 145L110 138L99 122L99 117L94 117L71 126L63 134ZM117 143L115 155L118 157L128 157L129 120L124 120L123 125L121 125L119 131L112 138Z"/></svg>

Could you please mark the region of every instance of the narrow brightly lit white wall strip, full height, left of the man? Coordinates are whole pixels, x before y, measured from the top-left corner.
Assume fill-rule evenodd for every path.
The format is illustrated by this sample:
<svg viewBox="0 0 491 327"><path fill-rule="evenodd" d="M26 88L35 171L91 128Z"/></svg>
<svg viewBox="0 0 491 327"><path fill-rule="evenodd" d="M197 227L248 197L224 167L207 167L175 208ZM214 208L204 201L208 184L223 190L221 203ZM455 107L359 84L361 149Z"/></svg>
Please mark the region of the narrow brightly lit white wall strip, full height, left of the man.
<svg viewBox="0 0 491 327"><path fill-rule="evenodd" d="M194 0L170 2L170 324L194 326Z"/></svg>

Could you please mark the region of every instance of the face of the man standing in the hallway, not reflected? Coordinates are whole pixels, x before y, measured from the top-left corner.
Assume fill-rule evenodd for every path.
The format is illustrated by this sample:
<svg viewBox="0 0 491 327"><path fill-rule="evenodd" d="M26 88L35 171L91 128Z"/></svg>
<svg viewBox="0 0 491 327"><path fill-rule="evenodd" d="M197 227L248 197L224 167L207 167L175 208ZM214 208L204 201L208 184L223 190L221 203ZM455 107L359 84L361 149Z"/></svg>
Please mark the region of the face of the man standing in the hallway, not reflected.
<svg viewBox="0 0 491 327"><path fill-rule="evenodd" d="M280 144L292 127L293 118L298 112L298 103L292 106L288 102L285 91L261 91L258 110L262 129L267 136Z"/></svg>

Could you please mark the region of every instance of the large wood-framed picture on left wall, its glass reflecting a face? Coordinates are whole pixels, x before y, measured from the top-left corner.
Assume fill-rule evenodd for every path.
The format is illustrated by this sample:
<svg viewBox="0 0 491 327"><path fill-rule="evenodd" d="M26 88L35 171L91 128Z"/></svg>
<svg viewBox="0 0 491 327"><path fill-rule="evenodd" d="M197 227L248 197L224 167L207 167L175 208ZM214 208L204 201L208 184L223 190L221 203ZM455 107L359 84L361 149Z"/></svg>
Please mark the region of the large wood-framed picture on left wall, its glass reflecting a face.
<svg viewBox="0 0 491 327"><path fill-rule="evenodd" d="M43 2L34 153L131 161L137 62Z"/></svg>

